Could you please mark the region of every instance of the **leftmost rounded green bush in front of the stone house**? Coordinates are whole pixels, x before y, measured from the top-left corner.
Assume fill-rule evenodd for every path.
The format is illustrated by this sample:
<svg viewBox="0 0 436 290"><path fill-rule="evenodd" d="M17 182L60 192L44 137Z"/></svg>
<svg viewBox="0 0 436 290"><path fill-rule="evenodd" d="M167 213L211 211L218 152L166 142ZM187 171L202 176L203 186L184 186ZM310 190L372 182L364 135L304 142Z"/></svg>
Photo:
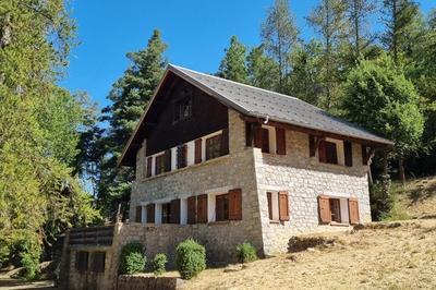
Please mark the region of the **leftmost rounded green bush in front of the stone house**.
<svg viewBox="0 0 436 290"><path fill-rule="evenodd" d="M144 270L146 263L144 246L138 242L123 246L120 255L120 274L136 274Z"/></svg>

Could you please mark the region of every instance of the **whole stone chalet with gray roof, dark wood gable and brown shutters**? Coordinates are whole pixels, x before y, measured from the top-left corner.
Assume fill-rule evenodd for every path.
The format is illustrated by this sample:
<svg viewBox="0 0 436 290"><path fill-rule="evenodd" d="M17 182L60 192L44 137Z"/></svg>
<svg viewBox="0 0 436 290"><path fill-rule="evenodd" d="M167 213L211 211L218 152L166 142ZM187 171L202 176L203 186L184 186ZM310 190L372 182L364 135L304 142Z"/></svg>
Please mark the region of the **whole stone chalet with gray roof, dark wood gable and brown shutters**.
<svg viewBox="0 0 436 290"><path fill-rule="evenodd" d="M298 98L170 64L119 161L135 168L130 220L102 229L106 247L71 232L69 279L100 262L96 285L113 281L129 241L171 262L193 237L220 263L243 241L271 255L294 234L371 221L368 164L391 145Z"/></svg>

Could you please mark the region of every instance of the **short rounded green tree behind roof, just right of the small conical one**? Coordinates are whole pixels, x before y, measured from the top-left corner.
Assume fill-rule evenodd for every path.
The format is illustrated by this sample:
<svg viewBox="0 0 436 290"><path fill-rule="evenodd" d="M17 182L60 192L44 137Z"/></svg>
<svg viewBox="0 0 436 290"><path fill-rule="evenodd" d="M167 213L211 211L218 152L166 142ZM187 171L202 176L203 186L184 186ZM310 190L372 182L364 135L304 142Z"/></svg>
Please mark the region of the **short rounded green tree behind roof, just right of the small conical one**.
<svg viewBox="0 0 436 290"><path fill-rule="evenodd" d="M246 57L249 83L253 86L274 90L277 88L279 68L274 59L264 53L264 46L253 48Z"/></svg>

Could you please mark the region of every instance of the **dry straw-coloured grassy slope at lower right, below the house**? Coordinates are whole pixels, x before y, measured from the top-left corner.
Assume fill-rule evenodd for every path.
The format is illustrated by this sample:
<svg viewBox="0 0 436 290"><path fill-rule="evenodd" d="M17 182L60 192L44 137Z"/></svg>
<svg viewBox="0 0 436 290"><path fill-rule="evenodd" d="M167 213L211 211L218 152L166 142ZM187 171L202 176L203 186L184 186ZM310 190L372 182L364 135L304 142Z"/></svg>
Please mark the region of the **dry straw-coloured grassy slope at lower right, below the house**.
<svg viewBox="0 0 436 290"><path fill-rule="evenodd" d="M183 289L436 289L436 220L336 234L332 246L227 269Z"/></svg>

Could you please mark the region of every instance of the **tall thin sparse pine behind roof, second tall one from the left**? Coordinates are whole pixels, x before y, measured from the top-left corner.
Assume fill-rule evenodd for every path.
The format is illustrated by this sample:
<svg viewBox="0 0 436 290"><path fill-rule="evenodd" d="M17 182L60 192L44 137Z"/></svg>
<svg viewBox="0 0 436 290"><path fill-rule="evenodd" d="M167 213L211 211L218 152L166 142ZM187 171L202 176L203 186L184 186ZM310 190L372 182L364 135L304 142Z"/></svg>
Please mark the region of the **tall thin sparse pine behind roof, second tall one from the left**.
<svg viewBox="0 0 436 290"><path fill-rule="evenodd" d="M347 5L342 0L320 0L307 19L322 36L324 46L323 84L326 93L323 107L327 110L334 108L339 97L339 52L348 35L346 11Z"/></svg>

